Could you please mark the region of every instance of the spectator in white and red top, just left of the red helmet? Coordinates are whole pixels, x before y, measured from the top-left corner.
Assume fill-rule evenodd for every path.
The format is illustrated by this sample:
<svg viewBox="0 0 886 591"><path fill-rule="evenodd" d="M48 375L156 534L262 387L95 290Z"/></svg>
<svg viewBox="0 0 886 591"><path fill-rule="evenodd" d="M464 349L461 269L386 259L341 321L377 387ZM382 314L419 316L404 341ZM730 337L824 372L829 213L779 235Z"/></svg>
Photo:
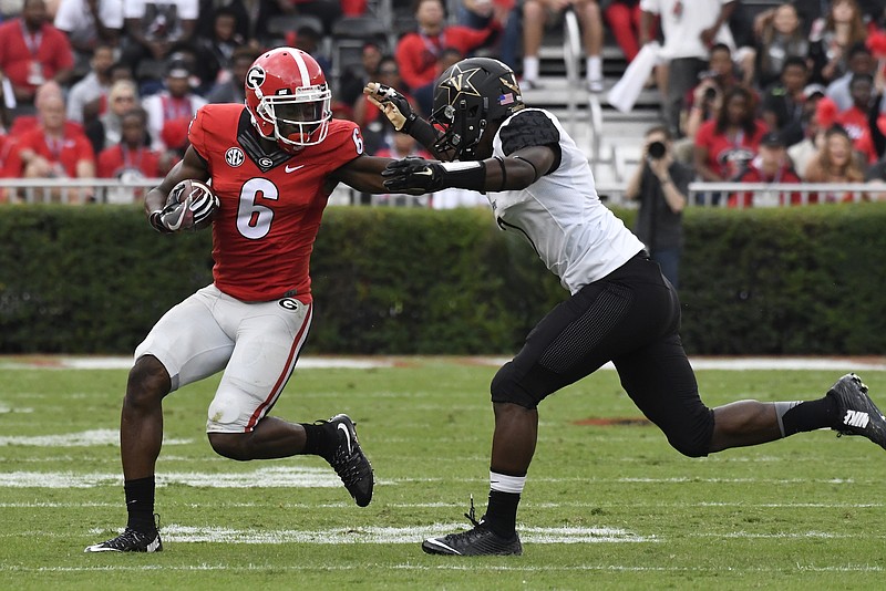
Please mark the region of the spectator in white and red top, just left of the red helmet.
<svg viewBox="0 0 886 591"><path fill-rule="evenodd" d="M142 104L147 112L152 147L176 152L187 147L187 125L206 100L190 92L190 70L185 62L169 62L165 82L165 91L146 96Z"/></svg>

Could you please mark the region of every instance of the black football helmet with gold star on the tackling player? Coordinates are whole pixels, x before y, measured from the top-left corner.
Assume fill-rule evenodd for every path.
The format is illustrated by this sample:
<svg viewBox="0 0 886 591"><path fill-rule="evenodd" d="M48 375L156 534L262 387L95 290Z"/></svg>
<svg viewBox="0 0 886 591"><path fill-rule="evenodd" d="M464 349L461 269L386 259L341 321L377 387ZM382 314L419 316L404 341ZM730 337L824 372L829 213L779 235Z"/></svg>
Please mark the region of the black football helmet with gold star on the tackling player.
<svg viewBox="0 0 886 591"><path fill-rule="evenodd" d="M430 121L443 135L434 144L454 160L476 159L483 132L525 105L514 71L491 58L468 58L436 80Z"/></svg>

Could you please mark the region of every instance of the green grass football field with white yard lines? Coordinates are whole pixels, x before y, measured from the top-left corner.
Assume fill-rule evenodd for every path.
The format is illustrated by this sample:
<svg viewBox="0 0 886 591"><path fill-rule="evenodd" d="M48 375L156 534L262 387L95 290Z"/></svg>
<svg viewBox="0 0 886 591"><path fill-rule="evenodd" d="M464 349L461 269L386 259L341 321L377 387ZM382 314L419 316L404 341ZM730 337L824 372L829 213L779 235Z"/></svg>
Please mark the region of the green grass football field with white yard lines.
<svg viewBox="0 0 886 591"><path fill-rule="evenodd" d="M375 469L354 506L318 458L235 463L204 435L217 380L165 404L165 551L85 554L125 522L126 371L0 361L2 589L883 589L886 455L822 431L689 459L602 370L546 401L523 496L523 557L452 559L488 489L492 365L419 357L299 369L274 414L347 412ZM709 405L817 397L842 369L698 373ZM886 406L886 372L858 370ZM585 421L585 419L608 421ZM593 423L593 424L586 424Z"/></svg>

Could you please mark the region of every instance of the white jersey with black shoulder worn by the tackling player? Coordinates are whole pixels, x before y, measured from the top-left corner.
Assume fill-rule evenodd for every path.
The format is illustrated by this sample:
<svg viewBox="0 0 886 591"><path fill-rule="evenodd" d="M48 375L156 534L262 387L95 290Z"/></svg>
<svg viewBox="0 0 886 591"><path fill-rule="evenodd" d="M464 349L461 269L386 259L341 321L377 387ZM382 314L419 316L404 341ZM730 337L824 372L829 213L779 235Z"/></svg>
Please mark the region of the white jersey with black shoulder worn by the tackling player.
<svg viewBox="0 0 886 591"><path fill-rule="evenodd" d="M522 190L487 193L503 230L523 234L570 293L602 279L643 249L642 242L599 199L587 156L557 117L542 108L509 116L493 139L493 154L558 146L555 168Z"/></svg>

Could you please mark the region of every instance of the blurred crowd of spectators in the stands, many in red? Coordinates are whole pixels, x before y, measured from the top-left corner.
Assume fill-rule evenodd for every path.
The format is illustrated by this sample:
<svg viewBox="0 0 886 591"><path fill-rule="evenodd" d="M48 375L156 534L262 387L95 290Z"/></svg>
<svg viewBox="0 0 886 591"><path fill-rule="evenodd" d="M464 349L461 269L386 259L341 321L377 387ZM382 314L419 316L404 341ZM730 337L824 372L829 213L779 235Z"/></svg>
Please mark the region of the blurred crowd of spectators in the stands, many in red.
<svg viewBox="0 0 886 591"><path fill-rule="evenodd" d="M359 60L333 63L337 23L377 4L4 0L0 176L163 176L187 147L196 110L241 102L251 62L281 44L303 49L323 65L334 116L360 124L368 152L418 153L396 143L385 117L364 100L367 81L400 89L425 116L436 75L467 55L497 56L525 87L539 87L545 27L562 27L558 18L571 9L590 92L604 89L605 39L630 62L645 43L658 38L667 44L669 34L680 34L705 10L717 17L694 33L703 55L672 60L670 74L660 68L648 81L661 92L662 123L677 138L676 153L697 179L886 183L882 0L773 3L753 14L742 10L742 0L390 0L398 14L390 34L365 40ZM311 19L291 30L272 27L293 14ZM729 203L752 205L742 195Z"/></svg>

